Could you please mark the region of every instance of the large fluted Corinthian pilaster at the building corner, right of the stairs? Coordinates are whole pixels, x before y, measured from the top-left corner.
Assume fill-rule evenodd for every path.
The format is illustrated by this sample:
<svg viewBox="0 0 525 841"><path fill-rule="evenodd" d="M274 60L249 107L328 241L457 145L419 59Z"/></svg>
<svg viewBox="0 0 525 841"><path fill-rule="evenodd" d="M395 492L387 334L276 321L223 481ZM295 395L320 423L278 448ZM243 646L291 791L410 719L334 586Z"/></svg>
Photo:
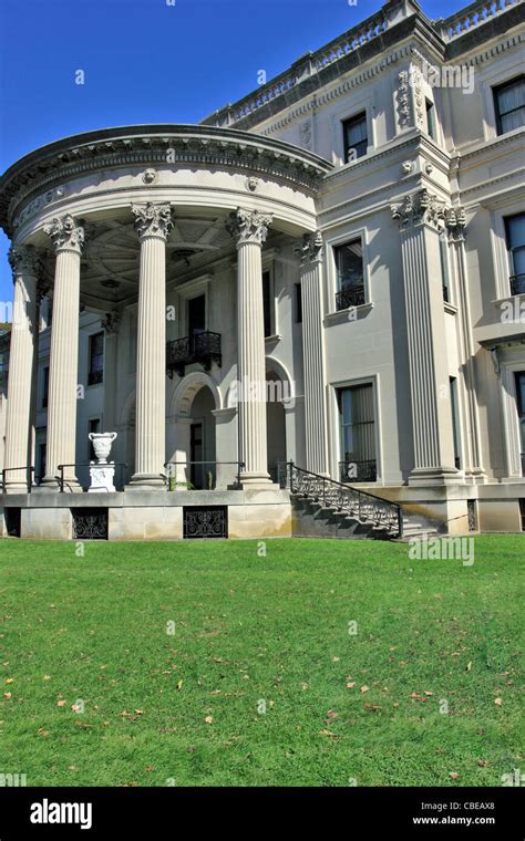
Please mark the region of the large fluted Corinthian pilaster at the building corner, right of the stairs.
<svg viewBox="0 0 525 841"><path fill-rule="evenodd" d="M426 190L392 206L400 221L414 468L409 484L455 480L439 233L447 208Z"/></svg>

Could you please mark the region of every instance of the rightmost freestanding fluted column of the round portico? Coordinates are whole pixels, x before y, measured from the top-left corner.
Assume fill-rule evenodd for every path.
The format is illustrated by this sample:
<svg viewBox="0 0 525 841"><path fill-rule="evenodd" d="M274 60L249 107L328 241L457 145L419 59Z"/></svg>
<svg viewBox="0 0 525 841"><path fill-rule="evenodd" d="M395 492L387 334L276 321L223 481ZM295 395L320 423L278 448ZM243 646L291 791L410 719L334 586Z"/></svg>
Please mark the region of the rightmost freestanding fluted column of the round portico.
<svg viewBox="0 0 525 841"><path fill-rule="evenodd" d="M266 439L266 364L261 250L271 215L238 208L227 228L237 242L239 459L245 486L270 484Z"/></svg>

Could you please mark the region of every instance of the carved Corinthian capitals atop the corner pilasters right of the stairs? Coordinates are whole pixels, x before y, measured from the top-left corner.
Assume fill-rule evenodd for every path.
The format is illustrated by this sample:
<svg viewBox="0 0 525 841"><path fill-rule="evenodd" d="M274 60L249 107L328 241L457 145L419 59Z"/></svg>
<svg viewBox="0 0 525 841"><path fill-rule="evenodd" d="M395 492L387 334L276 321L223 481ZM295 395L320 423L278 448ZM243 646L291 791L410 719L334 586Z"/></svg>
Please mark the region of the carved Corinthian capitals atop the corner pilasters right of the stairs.
<svg viewBox="0 0 525 841"><path fill-rule="evenodd" d="M452 207L441 201L426 189L412 196L405 196L402 201L391 205L392 219L400 221L400 228L406 229L412 225L426 222L437 231L446 231L449 238L459 242L463 240L463 231L466 225L465 211L457 205Z"/></svg>

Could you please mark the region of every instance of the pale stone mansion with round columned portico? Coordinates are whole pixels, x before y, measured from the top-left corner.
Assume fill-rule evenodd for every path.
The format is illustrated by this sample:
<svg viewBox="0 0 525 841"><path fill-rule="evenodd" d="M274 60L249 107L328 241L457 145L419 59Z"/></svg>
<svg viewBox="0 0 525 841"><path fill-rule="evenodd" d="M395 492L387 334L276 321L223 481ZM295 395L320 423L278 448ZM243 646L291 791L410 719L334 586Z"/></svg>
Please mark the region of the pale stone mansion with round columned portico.
<svg viewBox="0 0 525 841"><path fill-rule="evenodd" d="M3 174L0 533L525 528L523 10L388 0L197 125Z"/></svg>

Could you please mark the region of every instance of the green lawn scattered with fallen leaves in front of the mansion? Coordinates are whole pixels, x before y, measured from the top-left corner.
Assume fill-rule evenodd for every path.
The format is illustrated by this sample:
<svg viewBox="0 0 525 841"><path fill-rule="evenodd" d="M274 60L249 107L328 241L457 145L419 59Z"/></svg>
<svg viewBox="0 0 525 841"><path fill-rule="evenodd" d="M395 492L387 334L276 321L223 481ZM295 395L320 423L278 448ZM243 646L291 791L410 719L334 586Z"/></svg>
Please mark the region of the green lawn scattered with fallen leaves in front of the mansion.
<svg viewBox="0 0 525 841"><path fill-rule="evenodd" d="M524 547L476 538L469 567L369 541L275 540L266 557L256 541L86 543L79 558L3 540L0 771L37 786L502 785L524 767Z"/></svg>

